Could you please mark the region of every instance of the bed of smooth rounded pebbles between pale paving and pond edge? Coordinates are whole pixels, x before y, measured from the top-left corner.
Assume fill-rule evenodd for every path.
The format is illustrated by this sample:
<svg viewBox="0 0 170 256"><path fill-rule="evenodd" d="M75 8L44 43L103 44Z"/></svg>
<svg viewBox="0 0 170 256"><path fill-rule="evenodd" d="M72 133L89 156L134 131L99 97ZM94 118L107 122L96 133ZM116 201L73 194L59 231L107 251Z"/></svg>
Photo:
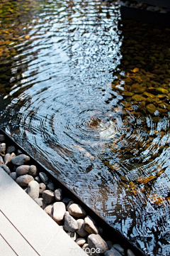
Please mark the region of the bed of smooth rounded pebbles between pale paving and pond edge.
<svg viewBox="0 0 170 256"><path fill-rule="evenodd" d="M45 213L77 242L87 255L135 256L124 245L114 240L105 241L103 230L96 220L86 214L84 208L64 197L64 191L57 188L50 178L20 149L6 144L4 134L0 134L0 171L6 171Z"/></svg>

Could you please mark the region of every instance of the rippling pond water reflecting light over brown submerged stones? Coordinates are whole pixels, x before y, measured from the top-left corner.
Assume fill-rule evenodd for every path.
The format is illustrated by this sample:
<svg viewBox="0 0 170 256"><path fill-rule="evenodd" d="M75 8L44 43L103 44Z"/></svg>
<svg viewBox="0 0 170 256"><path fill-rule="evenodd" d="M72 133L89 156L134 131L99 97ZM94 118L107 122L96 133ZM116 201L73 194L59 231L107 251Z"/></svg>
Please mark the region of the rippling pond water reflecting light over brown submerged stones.
<svg viewBox="0 0 170 256"><path fill-rule="evenodd" d="M146 255L170 254L169 32L114 3L0 3L0 127Z"/></svg>

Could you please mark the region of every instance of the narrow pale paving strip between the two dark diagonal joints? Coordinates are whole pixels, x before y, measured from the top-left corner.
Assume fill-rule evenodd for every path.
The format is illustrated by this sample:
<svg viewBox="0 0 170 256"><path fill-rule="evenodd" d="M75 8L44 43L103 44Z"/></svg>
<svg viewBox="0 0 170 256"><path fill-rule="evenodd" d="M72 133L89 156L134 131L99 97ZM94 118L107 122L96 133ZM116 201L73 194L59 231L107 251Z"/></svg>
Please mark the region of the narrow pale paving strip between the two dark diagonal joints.
<svg viewBox="0 0 170 256"><path fill-rule="evenodd" d="M14 252L20 256L38 256L33 247L29 245L28 241L23 238L21 233L9 222L6 216L0 211L0 233L8 242ZM0 248L1 249L1 248ZM0 252L1 253L1 252Z"/></svg>

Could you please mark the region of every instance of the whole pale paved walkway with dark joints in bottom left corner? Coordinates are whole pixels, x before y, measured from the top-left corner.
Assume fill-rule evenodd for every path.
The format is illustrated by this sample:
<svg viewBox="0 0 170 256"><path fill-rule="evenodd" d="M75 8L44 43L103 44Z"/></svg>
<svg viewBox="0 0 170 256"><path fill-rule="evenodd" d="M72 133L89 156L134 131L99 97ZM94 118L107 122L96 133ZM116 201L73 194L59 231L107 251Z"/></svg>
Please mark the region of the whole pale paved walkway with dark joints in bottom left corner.
<svg viewBox="0 0 170 256"><path fill-rule="evenodd" d="M0 169L0 255L86 256L86 253Z"/></svg>

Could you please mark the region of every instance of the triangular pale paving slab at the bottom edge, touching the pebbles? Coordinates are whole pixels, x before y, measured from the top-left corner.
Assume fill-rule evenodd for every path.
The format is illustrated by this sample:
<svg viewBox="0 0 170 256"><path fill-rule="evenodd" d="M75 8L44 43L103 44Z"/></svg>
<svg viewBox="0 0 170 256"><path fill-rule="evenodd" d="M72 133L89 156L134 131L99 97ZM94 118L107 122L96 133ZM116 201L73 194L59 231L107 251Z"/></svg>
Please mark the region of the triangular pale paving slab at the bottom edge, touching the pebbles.
<svg viewBox="0 0 170 256"><path fill-rule="evenodd" d="M86 252L74 242L67 233L60 231L42 251L41 256L87 256Z"/></svg>

